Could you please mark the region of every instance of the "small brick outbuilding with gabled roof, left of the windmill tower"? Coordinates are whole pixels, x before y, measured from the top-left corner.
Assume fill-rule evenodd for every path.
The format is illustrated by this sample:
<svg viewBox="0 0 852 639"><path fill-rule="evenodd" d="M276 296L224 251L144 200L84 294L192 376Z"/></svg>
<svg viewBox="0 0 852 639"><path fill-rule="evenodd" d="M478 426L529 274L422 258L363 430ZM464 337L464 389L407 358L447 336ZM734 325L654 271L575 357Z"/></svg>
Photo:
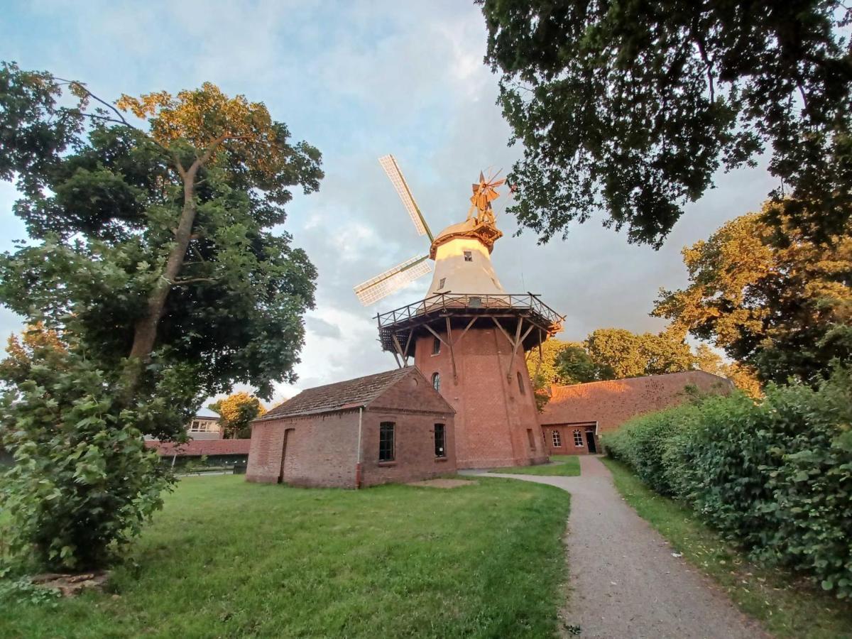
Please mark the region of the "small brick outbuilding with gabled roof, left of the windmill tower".
<svg viewBox="0 0 852 639"><path fill-rule="evenodd" d="M414 366L303 390L252 423L246 479L354 488L454 473L453 415Z"/></svg>

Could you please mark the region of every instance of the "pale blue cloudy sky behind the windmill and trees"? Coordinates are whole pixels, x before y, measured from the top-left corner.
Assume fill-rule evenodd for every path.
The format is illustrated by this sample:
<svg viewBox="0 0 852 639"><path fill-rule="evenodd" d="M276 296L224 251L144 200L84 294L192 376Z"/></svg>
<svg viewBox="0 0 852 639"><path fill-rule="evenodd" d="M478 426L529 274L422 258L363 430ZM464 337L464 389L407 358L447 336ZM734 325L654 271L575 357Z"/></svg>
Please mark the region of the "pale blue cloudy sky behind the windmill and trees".
<svg viewBox="0 0 852 639"><path fill-rule="evenodd" d="M508 170L520 150L495 104L497 78L483 65L486 32L472 2L60 2L6 4L0 59L89 83L117 98L204 81L267 104L296 140L323 153L319 193L296 194L285 227L320 272L317 308L298 389L394 367L373 317L423 297L429 277L363 308L352 287L428 249L377 163L393 153L434 232L463 221L481 169ZM757 210L774 187L763 169L716 176L687 207L665 246L628 245L602 216L539 246L498 199L492 262L504 289L540 293L567 315L559 336L595 328L659 331L648 317L659 287L686 283L680 250L722 222ZM11 213L14 187L0 182L0 250L24 229ZM0 307L0 337L20 318Z"/></svg>

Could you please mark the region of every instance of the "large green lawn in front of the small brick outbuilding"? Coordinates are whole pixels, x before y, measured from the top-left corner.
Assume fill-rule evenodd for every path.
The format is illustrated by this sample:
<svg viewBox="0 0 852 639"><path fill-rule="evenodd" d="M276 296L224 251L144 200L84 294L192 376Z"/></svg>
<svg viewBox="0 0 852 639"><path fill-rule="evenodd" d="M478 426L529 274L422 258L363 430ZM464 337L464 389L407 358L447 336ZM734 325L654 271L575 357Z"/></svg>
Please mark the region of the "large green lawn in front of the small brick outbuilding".
<svg viewBox="0 0 852 639"><path fill-rule="evenodd" d="M568 505L487 478L343 491L189 477L109 592L0 602L0 636L553 636Z"/></svg>

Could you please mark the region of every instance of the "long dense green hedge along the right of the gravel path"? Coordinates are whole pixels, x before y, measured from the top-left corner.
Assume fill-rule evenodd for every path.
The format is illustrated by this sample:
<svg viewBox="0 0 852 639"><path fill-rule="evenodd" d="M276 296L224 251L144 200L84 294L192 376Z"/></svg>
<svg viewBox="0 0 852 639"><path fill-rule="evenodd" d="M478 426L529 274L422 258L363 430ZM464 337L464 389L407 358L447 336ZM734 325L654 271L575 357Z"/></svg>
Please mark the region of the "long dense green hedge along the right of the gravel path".
<svg viewBox="0 0 852 639"><path fill-rule="evenodd" d="M852 596L852 378L711 397L604 438L655 491L772 564Z"/></svg>

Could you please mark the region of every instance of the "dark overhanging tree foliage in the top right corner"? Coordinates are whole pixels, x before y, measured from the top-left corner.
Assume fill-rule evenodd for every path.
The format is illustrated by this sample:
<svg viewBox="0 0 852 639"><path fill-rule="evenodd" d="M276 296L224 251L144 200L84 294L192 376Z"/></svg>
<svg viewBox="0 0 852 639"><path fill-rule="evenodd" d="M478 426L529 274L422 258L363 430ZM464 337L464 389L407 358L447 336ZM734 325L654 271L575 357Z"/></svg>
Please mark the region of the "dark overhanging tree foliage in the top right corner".
<svg viewBox="0 0 852 639"><path fill-rule="evenodd" d="M766 147L783 185L771 197L803 237L827 241L849 220L839 0L478 2L498 102L524 147L509 211L540 241L603 208L607 226L659 247L720 167L754 165Z"/></svg>

